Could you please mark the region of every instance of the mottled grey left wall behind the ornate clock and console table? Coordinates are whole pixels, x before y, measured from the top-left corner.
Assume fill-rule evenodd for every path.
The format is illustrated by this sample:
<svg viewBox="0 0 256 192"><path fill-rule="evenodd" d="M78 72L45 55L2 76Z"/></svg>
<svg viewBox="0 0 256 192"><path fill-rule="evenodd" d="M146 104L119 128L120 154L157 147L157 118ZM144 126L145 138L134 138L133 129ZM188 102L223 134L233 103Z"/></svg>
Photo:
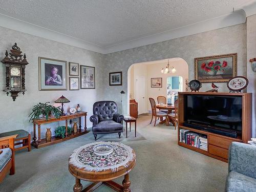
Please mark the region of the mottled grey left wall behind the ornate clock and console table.
<svg viewBox="0 0 256 192"><path fill-rule="evenodd" d="M0 27L0 58L5 57L5 51L10 50L14 42L20 47L23 53L26 53L29 64L26 67L26 89L25 95L19 93L16 101L12 101L10 96L6 96L5 92L0 92L0 109L1 109L1 126L0 133L24 129L32 133L33 126L29 123L29 114L33 105L38 102L50 101L53 103L62 94L71 102L67 103L65 110L81 104L83 111L92 115L92 105L95 101L102 99L103 83L103 57L104 55L84 49L76 48L56 41L44 39L41 37L29 35L26 33L10 30ZM96 89L79 90L79 91L38 91L38 57L47 57L53 59L78 62L80 65L96 67ZM5 65L0 64L0 88L5 87ZM68 86L69 89L69 86ZM88 120L88 127L91 122ZM83 119L83 118L82 118ZM53 128L58 125L64 125L65 121L60 123L49 123L41 126L41 138L45 137L46 127ZM33 137L33 136L32 136Z"/></svg>

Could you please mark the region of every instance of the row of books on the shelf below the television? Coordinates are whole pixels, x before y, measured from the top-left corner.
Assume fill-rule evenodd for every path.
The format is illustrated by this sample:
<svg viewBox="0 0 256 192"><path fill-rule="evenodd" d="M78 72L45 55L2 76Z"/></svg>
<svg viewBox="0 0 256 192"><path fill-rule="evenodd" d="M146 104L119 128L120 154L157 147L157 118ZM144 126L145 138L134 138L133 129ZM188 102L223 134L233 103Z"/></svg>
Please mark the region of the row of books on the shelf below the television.
<svg viewBox="0 0 256 192"><path fill-rule="evenodd" d="M180 142L186 143L201 150L207 151L207 136L199 133L192 132L190 130L180 130Z"/></svg>

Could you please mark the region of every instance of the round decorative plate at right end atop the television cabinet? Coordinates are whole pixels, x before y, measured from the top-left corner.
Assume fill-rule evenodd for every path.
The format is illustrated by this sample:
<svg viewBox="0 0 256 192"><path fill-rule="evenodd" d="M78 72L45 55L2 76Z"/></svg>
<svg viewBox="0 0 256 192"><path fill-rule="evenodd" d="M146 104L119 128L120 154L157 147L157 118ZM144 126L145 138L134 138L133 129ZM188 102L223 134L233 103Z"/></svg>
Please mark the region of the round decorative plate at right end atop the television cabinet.
<svg viewBox="0 0 256 192"><path fill-rule="evenodd" d="M241 91L248 85L248 79L243 76L237 76L230 79L227 83L227 87L230 91Z"/></svg>

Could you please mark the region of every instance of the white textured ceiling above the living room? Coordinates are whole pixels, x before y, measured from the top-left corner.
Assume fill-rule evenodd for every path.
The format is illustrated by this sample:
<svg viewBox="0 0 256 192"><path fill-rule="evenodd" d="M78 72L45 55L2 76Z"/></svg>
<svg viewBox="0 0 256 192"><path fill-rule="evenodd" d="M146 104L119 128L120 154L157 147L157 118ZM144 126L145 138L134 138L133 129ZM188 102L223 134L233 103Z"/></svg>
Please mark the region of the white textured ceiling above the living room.
<svg viewBox="0 0 256 192"><path fill-rule="evenodd" d="M0 0L0 13L101 47L226 15L246 0Z"/></svg>

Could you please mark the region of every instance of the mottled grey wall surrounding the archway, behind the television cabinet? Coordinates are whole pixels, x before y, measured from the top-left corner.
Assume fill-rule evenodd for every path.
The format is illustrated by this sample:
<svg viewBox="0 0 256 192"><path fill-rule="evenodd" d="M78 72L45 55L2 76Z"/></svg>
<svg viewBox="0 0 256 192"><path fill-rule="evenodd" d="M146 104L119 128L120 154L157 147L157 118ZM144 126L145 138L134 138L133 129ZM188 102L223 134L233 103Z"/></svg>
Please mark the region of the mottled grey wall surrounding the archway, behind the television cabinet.
<svg viewBox="0 0 256 192"><path fill-rule="evenodd" d="M228 53L238 53L238 75L246 76L246 24L107 54L105 57L106 73L122 71L123 86L109 87L108 76L105 76L105 98L114 99L120 103L120 91L124 90L127 93L127 70L133 63L181 57L188 63L189 80L192 80L195 75L195 57ZM216 84L220 87L219 92L228 92L226 83ZM211 89L210 83L203 83L200 91L209 89ZM124 96L123 105L123 111L127 113L127 94Z"/></svg>

